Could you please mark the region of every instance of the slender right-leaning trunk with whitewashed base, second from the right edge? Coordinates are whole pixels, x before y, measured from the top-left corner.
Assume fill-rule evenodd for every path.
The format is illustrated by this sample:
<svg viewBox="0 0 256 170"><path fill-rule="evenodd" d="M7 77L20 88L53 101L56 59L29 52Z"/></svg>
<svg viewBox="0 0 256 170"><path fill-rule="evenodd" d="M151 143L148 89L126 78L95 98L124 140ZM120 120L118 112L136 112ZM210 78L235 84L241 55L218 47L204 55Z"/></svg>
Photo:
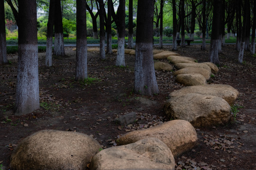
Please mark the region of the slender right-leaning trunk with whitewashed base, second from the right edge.
<svg viewBox="0 0 256 170"><path fill-rule="evenodd" d="M249 0L244 1L244 15L247 16L250 10L250 2ZM245 51L245 41L246 41L246 30L247 30L247 22L249 22L248 17L244 17L243 19L243 29L242 29L242 39L241 39L241 47L238 55L238 62L243 63L244 51Z"/></svg>

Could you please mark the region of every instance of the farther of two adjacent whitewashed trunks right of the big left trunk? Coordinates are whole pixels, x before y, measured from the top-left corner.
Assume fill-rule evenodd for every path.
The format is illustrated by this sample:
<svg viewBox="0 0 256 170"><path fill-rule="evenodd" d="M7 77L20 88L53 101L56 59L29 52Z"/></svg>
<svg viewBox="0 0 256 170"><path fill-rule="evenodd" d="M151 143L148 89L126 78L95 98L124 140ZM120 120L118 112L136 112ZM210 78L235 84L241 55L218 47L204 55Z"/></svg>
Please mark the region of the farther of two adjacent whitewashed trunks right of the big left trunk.
<svg viewBox="0 0 256 170"><path fill-rule="evenodd" d="M62 25L62 14L61 14L61 2L55 0L55 17L54 17L54 54L56 56L64 56L64 39L63 39L63 25Z"/></svg>

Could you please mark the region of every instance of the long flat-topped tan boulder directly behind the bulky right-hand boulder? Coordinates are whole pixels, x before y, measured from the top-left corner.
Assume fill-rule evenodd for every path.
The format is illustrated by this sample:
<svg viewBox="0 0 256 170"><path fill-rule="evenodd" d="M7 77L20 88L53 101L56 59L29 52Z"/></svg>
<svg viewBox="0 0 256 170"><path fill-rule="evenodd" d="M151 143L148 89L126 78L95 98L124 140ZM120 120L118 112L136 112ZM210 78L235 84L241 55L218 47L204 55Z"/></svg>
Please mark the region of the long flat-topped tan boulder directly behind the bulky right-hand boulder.
<svg viewBox="0 0 256 170"><path fill-rule="evenodd" d="M239 92L230 85L195 85L183 87L169 94L169 97L186 95L187 93L198 93L221 97L232 106L238 98Z"/></svg>

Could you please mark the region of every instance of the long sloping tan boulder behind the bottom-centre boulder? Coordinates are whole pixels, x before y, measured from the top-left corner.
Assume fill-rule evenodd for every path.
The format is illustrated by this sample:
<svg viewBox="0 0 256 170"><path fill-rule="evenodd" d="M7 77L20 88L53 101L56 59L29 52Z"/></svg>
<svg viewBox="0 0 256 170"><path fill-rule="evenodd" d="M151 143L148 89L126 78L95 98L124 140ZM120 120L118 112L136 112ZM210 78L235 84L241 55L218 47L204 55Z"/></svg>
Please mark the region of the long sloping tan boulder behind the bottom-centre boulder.
<svg viewBox="0 0 256 170"><path fill-rule="evenodd" d="M136 130L121 136L118 144L130 144L149 137L164 142L174 157L192 149L197 141L194 127L185 120L171 120L155 127Z"/></svg>

